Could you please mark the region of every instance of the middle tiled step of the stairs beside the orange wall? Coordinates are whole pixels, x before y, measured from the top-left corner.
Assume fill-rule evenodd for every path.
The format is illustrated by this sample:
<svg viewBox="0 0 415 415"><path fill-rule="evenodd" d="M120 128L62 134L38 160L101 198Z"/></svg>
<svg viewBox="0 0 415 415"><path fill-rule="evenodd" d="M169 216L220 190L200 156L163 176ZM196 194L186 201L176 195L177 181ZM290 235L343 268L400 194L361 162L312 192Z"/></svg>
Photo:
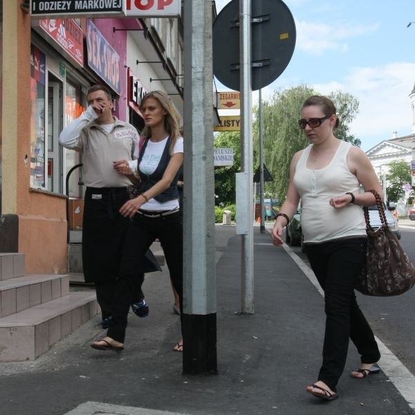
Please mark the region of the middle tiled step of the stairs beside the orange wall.
<svg viewBox="0 0 415 415"><path fill-rule="evenodd" d="M0 317L69 293L68 275L24 275L0 281Z"/></svg>

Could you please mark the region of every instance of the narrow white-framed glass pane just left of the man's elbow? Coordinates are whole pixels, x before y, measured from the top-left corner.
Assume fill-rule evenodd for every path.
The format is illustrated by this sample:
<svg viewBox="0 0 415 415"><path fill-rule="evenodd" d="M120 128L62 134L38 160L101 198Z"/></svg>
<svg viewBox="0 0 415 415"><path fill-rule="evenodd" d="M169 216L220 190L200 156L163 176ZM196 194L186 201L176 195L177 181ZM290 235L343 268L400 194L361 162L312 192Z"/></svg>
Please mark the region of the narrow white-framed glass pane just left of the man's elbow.
<svg viewBox="0 0 415 415"><path fill-rule="evenodd" d="M48 74L48 190L63 193L63 151L59 146L62 131L63 84L51 73Z"/></svg>

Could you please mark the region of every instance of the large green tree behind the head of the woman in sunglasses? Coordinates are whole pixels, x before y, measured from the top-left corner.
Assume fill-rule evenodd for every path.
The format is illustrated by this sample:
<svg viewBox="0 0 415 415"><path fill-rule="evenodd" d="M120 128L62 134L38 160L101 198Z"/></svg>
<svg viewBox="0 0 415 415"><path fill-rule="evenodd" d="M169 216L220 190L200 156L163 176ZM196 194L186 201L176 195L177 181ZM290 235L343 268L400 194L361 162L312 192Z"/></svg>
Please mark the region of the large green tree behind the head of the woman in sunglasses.
<svg viewBox="0 0 415 415"><path fill-rule="evenodd" d="M265 184L265 191L285 199L288 190L289 167L295 152L304 149L308 140L298 127L302 104L310 95L320 95L306 85L295 86L284 91L275 91L268 101L262 104L264 122L264 164L273 176L273 182ZM340 127L335 131L341 140L360 145L360 140L350 133L350 123L358 112L358 100L349 93L335 91L327 95L333 100L340 118ZM258 108L254 109L254 170L259 165Z"/></svg>

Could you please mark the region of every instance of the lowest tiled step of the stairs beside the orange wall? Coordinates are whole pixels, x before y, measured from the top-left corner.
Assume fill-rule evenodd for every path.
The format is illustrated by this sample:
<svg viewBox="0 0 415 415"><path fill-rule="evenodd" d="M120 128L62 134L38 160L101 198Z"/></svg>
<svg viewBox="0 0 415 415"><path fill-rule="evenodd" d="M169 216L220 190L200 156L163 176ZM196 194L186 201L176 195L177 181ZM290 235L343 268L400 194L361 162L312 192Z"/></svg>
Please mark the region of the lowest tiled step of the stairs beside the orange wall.
<svg viewBox="0 0 415 415"><path fill-rule="evenodd" d="M98 314L95 292L64 297L0 318L0 362L35 360Z"/></svg>

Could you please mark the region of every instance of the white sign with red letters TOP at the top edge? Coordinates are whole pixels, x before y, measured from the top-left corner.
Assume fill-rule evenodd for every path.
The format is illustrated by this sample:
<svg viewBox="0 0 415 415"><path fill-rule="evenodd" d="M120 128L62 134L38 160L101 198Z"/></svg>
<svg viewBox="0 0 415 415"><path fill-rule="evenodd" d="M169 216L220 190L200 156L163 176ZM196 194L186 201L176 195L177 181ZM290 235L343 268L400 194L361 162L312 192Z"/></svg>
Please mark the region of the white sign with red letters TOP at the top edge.
<svg viewBox="0 0 415 415"><path fill-rule="evenodd" d="M127 17L177 17L181 0L125 0Z"/></svg>

